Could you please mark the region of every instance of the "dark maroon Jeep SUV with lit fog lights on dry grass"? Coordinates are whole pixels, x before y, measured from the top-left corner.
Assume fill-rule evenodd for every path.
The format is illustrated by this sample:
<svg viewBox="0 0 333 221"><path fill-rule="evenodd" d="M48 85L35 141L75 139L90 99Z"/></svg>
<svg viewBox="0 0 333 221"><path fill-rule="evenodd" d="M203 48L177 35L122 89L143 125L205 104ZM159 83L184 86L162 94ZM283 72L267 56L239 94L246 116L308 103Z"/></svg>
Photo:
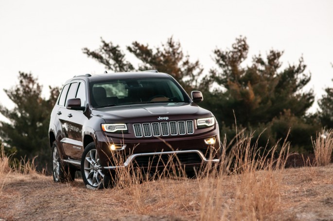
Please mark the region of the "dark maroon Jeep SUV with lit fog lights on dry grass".
<svg viewBox="0 0 333 221"><path fill-rule="evenodd" d="M49 137L55 182L81 170L90 187L107 186L115 170L173 164L191 174L219 162L220 137L212 113L173 77L157 71L74 76L53 108ZM117 159L117 160L115 160ZM88 187L87 186L87 187Z"/></svg>

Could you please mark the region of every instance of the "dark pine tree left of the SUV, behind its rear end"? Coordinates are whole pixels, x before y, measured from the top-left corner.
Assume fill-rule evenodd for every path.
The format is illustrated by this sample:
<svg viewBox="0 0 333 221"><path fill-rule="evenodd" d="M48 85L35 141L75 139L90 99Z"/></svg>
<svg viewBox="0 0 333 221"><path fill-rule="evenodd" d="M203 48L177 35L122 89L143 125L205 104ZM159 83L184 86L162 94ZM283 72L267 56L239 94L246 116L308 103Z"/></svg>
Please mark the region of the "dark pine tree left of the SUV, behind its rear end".
<svg viewBox="0 0 333 221"><path fill-rule="evenodd" d="M37 156L38 169L42 169L51 162L48 128L59 88L50 87L50 99L44 99L42 86L31 73L19 72L18 81L18 85L4 90L15 107L10 110L0 105L0 113L9 120L0 121L0 137L7 148L16 150L16 158Z"/></svg>

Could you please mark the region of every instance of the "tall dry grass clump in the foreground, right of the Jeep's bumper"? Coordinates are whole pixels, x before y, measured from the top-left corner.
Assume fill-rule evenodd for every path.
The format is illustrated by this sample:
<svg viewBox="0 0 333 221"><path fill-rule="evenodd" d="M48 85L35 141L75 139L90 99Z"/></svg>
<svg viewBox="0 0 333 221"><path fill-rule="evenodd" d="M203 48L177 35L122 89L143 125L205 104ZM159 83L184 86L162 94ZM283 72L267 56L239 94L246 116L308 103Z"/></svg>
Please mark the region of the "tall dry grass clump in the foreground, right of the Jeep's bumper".
<svg viewBox="0 0 333 221"><path fill-rule="evenodd" d="M274 159L278 143L270 149L260 148L258 140L253 144L252 138L253 134L246 137L244 133L236 137L227 158L234 161L230 163L224 155L217 176L213 173L203 178L200 220L264 220L276 209L289 143L284 141ZM226 140L222 148L226 149ZM232 189L224 189L228 179Z"/></svg>

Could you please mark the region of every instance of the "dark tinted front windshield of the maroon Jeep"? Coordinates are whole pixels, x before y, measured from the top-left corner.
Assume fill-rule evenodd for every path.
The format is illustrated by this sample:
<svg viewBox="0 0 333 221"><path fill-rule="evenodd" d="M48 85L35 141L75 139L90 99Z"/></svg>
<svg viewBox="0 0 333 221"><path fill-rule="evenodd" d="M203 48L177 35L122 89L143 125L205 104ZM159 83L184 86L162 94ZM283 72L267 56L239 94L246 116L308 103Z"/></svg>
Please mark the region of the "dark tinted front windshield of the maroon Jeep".
<svg viewBox="0 0 333 221"><path fill-rule="evenodd" d="M93 107L190 102L185 91L170 78L131 78L94 82L90 87L90 94Z"/></svg>

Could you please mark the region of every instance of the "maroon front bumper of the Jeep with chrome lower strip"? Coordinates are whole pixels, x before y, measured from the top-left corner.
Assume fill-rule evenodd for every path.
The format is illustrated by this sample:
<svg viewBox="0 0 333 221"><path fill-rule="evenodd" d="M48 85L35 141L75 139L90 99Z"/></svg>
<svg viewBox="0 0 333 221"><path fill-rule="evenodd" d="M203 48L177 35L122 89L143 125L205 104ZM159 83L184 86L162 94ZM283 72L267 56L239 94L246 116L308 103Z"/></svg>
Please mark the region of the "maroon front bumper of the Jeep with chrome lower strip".
<svg viewBox="0 0 333 221"><path fill-rule="evenodd" d="M218 163L221 155L219 129L216 125L205 133L188 136L128 138L110 135L102 131L95 134L96 149L101 166L105 170L126 168L163 167L165 162L177 166L199 166ZM206 144L205 139L215 138L215 144ZM112 151L110 145L126 145L123 150ZM159 162L159 163L158 163Z"/></svg>

